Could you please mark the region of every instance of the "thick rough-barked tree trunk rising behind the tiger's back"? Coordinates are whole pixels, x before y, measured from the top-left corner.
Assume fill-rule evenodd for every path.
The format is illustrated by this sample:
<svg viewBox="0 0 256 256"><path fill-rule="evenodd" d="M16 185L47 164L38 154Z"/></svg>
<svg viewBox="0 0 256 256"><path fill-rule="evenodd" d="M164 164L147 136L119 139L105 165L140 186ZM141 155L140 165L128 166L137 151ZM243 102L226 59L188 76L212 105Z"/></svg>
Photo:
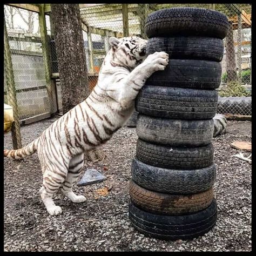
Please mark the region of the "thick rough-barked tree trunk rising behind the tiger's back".
<svg viewBox="0 0 256 256"><path fill-rule="evenodd" d="M90 95L79 5L51 4L51 18L65 114ZM85 153L89 161L104 157L101 150Z"/></svg>

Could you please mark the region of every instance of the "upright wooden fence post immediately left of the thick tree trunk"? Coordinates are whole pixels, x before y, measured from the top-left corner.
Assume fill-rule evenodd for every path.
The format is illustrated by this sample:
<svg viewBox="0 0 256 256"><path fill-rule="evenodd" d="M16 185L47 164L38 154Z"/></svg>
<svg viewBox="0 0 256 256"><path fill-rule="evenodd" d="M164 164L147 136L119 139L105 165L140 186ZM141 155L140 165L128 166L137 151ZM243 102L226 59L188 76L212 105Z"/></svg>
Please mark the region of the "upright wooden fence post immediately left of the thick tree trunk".
<svg viewBox="0 0 256 256"><path fill-rule="evenodd" d="M45 71L45 81L46 90L48 93L50 112L57 112L57 103L55 97L55 85L54 81L51 79L51 59L50 59L50 46L46 30L45 14L44 14L44 4L39 4L39 14L38 14L41 41L42 41L42 51L44 60L44 71Z"/></svg>

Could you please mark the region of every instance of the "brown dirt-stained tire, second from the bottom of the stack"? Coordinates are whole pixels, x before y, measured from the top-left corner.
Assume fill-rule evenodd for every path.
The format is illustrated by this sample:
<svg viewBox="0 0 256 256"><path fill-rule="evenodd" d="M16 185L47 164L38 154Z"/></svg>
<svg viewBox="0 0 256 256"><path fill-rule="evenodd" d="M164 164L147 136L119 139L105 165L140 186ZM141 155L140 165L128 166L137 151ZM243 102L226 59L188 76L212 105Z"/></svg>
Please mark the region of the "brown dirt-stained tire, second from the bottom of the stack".
<svg viewBox="0 0 256 256"><path fill-rule="evenodd" d="M130 180L132 203L143 211L159 215L192 214L207 208L213 199L213 190L196 194L166 194L147 190Z"/></svg>

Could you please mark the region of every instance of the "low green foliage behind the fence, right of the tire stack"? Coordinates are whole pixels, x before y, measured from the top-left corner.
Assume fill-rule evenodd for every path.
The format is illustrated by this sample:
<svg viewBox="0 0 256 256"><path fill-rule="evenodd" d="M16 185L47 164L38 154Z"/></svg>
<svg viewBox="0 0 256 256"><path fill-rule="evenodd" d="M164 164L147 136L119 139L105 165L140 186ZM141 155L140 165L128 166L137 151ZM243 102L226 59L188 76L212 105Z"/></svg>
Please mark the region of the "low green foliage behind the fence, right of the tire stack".
<svg viewBox="0 0 256 256"><path fill-rule="evenodd" d="M251 96L251 92L247 91L244 86L238 82L229 82L227 86L219 91L220 97L241 97L241 96Z"/></svg>

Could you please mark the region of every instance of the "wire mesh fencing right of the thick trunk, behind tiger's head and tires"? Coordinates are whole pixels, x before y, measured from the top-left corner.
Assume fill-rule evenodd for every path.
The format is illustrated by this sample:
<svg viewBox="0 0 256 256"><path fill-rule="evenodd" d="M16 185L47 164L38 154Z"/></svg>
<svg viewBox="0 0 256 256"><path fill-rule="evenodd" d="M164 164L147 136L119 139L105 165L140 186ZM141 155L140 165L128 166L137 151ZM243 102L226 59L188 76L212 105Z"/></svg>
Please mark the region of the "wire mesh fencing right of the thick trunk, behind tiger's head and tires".
<svg viewBox="0 0 256 256"><path fill-rule="evenodd" d="M98 60L105 56L102 50L103 37L105 38L105 53L109 49L107 45L109 36L136 35L146 39L144 30L146 17L153 11L174 7L214 9L228 17L230 29L224 39L219 95L223 97L250 96L251 4L90 4L90 6L87 4L84 8L80 8L80 15L84 24L83 29L86 30L86 39L89 42L85 44L85 48L90 87L96 84L100 65ZM98 37L93 33L98 34ZM98 46L101 51L100 55L96 49L97 44L100 45Z"/></svg>

